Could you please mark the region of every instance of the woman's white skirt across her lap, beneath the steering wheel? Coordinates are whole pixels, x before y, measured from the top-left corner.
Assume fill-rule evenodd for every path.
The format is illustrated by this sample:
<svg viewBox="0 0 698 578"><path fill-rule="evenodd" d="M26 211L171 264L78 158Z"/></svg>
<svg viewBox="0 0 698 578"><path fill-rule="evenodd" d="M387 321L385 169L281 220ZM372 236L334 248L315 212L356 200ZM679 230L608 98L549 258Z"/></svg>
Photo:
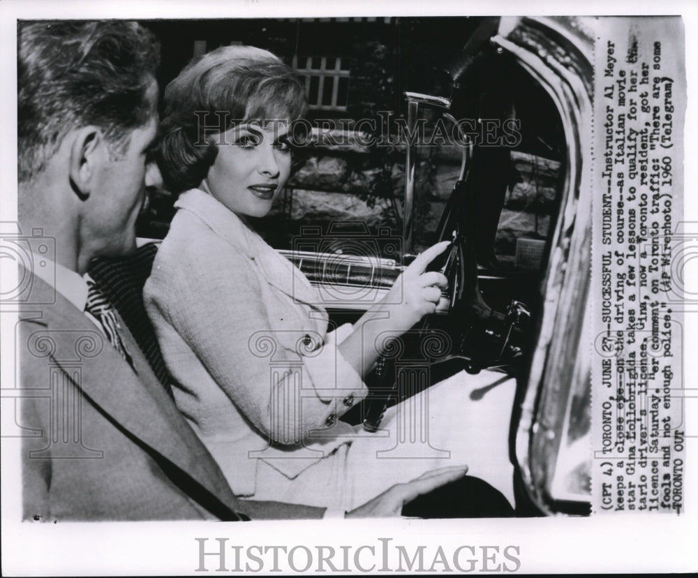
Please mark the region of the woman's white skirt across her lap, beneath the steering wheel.
<svg viewBox="0 0 698 578"><path fill-rule="evenodd" d="M516 381L503 373L464 371L385 412L380 430L356 437L294 478L258 460L254 496L353 510L394 484L426 471L468 465L514 505L510 422Z"/></svg>

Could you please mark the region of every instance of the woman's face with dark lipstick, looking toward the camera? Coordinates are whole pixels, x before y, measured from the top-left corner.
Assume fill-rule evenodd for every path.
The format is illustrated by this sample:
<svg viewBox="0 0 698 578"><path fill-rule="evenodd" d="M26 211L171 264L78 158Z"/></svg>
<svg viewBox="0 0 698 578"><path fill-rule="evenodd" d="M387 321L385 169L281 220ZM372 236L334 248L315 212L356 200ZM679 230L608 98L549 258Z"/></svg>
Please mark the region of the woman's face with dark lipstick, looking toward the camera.
<svg viewBox="0 0 698 578"><path fill-rule="evenodd" d="M288 122L241 124L219 135L202 188L241 216L265 216L291 170Z"/></svg>

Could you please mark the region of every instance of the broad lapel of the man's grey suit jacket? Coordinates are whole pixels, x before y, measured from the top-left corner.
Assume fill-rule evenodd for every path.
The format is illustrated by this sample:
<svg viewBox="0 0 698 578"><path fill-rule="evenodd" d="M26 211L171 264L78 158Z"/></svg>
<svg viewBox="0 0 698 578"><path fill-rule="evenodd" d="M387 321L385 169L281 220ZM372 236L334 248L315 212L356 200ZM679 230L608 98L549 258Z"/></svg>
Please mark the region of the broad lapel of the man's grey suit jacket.
<svg viewBox="0 0 698 578"><path fill-rule="evenodd" d="M45 286L40 279L34 281ZM225 505L234 507L235 498L221 470L158 383L128 330L122 330L121 336L138 375L95 325L59 293L53 305L43 306L42 318L33 318L36 313L31 311L20 316L46 327L56 342L52 360L68 376L76 376L75 362L80 362L77 379L81 383L71 380L86 397L120 427L191 475ZM123 322L121 327L125 327Z"/></svg>

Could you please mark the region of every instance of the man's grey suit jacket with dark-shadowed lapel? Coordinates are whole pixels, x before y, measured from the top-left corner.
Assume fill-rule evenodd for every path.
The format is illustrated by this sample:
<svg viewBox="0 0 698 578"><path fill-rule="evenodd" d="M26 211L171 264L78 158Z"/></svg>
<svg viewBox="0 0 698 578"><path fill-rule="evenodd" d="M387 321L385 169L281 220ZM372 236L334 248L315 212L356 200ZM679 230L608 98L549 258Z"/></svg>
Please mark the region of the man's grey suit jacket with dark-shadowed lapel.
<svg viewBox="0 0 698 578"><path fill-rule="evenodd" d="M82 311L31 283L17 333L25 519L321 517L237 501L124 323L135 371Z"/></svg>

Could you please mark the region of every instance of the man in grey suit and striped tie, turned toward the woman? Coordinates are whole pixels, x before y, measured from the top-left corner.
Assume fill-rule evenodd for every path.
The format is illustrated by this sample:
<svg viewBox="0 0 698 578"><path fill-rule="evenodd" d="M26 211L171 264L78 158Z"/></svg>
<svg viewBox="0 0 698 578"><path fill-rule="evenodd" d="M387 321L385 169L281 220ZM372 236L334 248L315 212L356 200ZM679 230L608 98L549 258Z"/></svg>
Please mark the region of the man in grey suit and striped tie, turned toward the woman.
<svg viewBox="0 0 698 578"><path fill-rule="evenodd" d="M20 227L52 241L33 246L24 272L24 517L322 517L322 508L235 499L118 314L83 277L93 258L135 249L145 188L159 179L149 163L158 94L151 34L134 22L34 22L20 27L18 52ZM436 470L347 515L399 514L465 470Z"/></svg>

